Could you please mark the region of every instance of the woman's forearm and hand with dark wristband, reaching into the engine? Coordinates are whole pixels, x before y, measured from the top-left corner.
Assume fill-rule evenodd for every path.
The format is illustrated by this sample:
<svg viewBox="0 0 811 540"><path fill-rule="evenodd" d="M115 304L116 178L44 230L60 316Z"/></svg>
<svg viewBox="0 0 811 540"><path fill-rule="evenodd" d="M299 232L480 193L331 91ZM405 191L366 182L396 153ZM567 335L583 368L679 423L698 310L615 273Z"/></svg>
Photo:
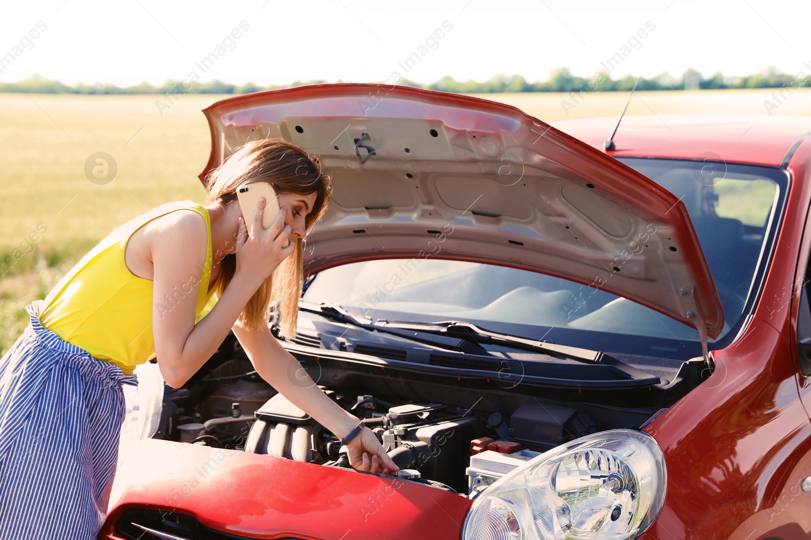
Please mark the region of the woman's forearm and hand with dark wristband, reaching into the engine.
<svg viewBox="0 0 811 540"><path fill-rule="evenodd" d="M333 435L343 438L358 426L358 418L341 409L316 386L293 355L271 335L269 328L248 329L234 326L234 335L248 358L251 358L256 372ZM350 440L346 448L350 464L355 469L383 474L397 470L397 465L368 429Z"/></svg>

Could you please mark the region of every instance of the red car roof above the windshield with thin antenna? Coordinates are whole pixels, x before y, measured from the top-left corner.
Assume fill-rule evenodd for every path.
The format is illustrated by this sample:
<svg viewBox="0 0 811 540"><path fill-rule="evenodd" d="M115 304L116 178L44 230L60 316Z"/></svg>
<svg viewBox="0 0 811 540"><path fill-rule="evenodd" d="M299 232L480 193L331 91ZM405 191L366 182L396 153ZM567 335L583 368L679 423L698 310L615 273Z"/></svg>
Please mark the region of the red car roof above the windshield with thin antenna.
<svg viewBox="0 0 811 540"><path fill-rule="evenodd" d="M560 131L603 150L618 117L551 122ZM708 159L787 167L794 149L811 135L811 117L736 114L626 116L610 156Z"/></svg>

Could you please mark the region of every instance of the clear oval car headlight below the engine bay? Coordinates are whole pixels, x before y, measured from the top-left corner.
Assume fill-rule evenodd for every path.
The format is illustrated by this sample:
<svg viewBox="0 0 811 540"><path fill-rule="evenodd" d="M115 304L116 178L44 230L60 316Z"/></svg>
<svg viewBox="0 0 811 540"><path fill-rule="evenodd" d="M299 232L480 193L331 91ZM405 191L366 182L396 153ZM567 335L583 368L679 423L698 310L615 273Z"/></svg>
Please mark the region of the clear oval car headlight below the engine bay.
<svg viewBox="0 0 811 540"><path fill-rule="evenodd" d="M659 444L612 430L552 448L479 492L463 540L637 538L664 502Z"/></svg>

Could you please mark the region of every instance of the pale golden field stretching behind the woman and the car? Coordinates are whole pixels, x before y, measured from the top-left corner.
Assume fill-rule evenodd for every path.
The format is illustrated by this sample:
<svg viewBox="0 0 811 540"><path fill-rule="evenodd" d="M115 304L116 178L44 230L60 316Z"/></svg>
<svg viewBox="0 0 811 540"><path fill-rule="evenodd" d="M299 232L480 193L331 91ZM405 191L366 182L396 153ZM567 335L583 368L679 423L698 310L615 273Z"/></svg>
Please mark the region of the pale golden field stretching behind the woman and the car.
<svg viewBox="0 0 811 540"><path fill-rule="evenodd" d="M763 101L771 92L639 92L628 114L766 114ZM479 96L546 122L616 116L628 97L595 92L566 111L567 94ZM210 139L200 109L225 96L181 96L162 115L155 105L160 97L0 94L0 263L38 225L47 228L33 251L0 277L0 352L22 332L29 300L43 298L112 229L170 200L205 201L197 174L208 161ZM795 92L774 114L811 114L811 91ZM114 156L113 182L99 186L85 177L94 152Z"/></svg>

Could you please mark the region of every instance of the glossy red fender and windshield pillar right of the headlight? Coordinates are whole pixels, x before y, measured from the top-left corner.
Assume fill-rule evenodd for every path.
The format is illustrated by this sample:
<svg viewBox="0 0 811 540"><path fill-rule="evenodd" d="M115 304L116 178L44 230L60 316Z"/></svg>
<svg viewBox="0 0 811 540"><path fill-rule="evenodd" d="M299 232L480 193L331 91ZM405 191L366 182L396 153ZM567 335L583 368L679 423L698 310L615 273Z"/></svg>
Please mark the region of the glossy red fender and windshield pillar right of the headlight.
<svg viewBox="0 0 811 540"><path fill-rule="evenodd" d="M811 535L811 492L799 489L811 475L811 424L798 395L792 310L784 302L791 295L781 294L792 289L796 268L805 268L797 255L811 199L809 162L806 140L792 160L783 226L744 335L714 351L713 375L646 428L667 464L665 505L649 529L657 538Z"/></svg>

